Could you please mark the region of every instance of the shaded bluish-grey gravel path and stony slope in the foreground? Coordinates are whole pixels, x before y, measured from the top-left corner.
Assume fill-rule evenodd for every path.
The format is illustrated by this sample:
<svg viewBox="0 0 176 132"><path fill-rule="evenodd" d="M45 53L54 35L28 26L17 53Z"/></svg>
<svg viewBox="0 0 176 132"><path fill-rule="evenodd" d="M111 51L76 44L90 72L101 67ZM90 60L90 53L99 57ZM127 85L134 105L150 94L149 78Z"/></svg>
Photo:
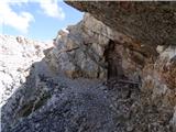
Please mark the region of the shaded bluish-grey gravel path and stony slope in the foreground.
<svg viewBox="0 0 176 132"><path fill-rule="evenodd" d="M141 110L141 96L139 84L128 80L56 76L43 59L2 107L2 132L144 132L151 108Z"/></svg>

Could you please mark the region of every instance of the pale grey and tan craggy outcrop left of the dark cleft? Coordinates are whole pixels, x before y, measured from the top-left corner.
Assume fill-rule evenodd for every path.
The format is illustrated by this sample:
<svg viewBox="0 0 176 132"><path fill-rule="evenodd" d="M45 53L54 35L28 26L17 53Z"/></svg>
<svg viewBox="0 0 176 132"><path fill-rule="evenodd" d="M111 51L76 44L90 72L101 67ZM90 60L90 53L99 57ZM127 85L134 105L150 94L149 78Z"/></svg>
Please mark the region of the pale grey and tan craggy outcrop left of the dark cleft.
<svg viewBox="0 0 176 132"><path fill-rule="evenodd" d="M89 14L67 30L68 32L58 32L55 47L50 51L51 55L46 55L52 67L72 78L105 78L103 51L109 35L112 35L111 30ZM105 33L105 36L101 33ZM55 61L52 61L53 58Z"/></svg>

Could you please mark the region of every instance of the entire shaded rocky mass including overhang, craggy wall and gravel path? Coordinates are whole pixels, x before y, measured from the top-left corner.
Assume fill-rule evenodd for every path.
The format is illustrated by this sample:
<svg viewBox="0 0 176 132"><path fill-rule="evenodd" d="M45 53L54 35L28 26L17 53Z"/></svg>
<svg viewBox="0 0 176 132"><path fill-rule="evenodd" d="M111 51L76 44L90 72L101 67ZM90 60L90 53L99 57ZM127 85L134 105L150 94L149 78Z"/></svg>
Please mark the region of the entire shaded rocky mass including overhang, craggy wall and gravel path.
<svg viewBox="0 0 176 132"><path fill-rule="evenodd" d="M59 31L54 47L30 67L2 107L3 132L176 131L176 47L170 32L162 37L174 4L69 3L91 14ZM161 25L152 26L157 18Z"/></svg>

